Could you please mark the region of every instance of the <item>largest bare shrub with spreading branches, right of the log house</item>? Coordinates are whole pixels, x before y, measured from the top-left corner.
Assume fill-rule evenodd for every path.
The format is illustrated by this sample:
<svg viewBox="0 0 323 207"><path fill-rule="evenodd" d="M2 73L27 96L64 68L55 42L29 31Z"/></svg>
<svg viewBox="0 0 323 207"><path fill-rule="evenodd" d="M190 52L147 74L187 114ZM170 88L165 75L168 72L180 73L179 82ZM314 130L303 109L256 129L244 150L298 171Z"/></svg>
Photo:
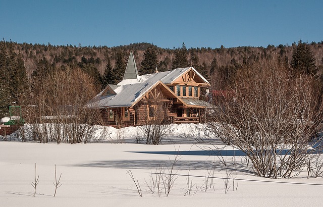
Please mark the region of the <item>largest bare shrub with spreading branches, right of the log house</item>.
<svg viewBox="0 0 323 207"><path fill-rule="evenodd" d="M305 167L322 99L312 77L290 73L278 61L237 71L229 95L215 101L209 127L250 159L259 176L292 177Z"/></svg>

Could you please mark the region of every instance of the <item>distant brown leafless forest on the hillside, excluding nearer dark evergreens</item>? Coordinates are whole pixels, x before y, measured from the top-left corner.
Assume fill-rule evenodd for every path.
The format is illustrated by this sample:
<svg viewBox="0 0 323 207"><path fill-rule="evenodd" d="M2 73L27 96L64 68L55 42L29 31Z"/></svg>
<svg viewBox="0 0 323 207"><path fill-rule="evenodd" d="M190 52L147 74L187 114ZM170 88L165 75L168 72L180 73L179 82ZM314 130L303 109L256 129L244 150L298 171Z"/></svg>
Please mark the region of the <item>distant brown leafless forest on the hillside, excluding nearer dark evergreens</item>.
<svg viewBox="0 0 323 207"><path fill-rule="evenodd" d="M21 54L25 63L28 76L39 67L90 67L95 68L103 75L108 59L111 60L112 68L118 64L118 58L126 59L130 50L133 51L138 70L142 72L141 62L144 60L144 52L147 48L152 48L157 57L157 68L159 71L172 70L172 63L176 57L178 49L182 48L160 48L149 43L133 43L117 47L106 46L72 46L72 45L51 45L15 43L16 54ZM187 66L193 66L198 71L205 71L204 74L212 75L214 70L221 67L241 67L254 61L272 59L280 57L286 63L292 61L293 48L297 43L290 45L268 45L267 47L239 46L232 48L188 48ZM315 58L315 65L323 65L323 41L309 44L309 48ZM153 68L154 69L154 68ZM209 77L210 78L210 77Z"/></svg>

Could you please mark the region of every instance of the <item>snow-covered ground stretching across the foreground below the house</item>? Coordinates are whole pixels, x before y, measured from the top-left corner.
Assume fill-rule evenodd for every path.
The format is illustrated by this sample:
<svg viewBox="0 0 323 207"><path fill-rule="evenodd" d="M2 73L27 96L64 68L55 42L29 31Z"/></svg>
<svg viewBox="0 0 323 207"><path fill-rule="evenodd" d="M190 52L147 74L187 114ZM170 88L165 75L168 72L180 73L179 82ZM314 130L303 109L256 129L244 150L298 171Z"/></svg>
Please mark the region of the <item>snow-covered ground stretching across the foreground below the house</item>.
<svg viewBox="0 0 323 207"><path fill-rule="evenodd" d="M113 128L105 129L109 133L105 133L103 143L0 141L0 206L321 206L323 178L306 179L306 172L291 179L257 177L242 156L232 157L232 153L223 158L228 172L232 172L231 178L235 178L235 187L230 180L231 187L225 193L227 171L221 157L210 156L203 149L213 146L196 145L190 137L191 134L210 136L200 130L203 127L174 125L161 145L137 144L135 127L123 129L123 144L112 141L120 134ZM103 128L100 130L97 136ZM224 146L220 141L215 143L217 147ZM232 152L231 147L224 150ZM180 156L175 172L180 176L169 196L164 191L160 197L152 194L145 181L150 183L150 173L160 165L168 172L167 167L170 168L177 153ZM35 179L35 163L39 184L34 197L31 184ZM53 197L55 164L58 176L62 173L63 185ZM142 197L127 174L129 170L139 182ZM205 192L209 173L214 177L214 186ZM184 196L187 179L192 181L193 188L191 195Z"/></svg>

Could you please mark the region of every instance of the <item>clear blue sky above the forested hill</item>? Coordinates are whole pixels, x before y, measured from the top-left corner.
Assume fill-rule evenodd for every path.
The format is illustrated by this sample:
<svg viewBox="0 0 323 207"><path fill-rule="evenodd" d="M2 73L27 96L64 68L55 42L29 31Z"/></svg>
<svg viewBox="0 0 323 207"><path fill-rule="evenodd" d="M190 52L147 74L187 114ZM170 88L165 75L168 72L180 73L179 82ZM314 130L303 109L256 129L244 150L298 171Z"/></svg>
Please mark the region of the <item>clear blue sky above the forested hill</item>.
<svg viewBox="0 0 323 207"><path fill-rule="evenodd" d="M323 40L323 1L0 0L0 21L18 43L266 47Z"/></svg>

